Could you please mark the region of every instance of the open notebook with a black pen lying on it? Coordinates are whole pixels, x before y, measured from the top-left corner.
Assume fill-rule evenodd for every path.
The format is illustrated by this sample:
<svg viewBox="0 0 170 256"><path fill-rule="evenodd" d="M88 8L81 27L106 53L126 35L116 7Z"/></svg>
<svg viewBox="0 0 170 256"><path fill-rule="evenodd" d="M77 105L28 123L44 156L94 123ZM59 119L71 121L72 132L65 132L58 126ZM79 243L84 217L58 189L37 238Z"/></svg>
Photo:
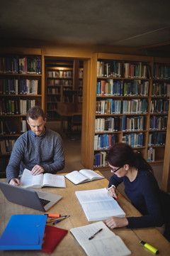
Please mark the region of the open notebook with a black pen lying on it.
<svg viewBox="0 0 170 256"><path fill-rule="evenodd" d="M93 239L89 240L91 235L94 235L101 228L101 232L96 234ZM123 240L109 230L103 221L78 228L71 228L70 232L74 235L77 242L79 242L79 245L84 249L86 255L126 256L131 254Z"/></svg>

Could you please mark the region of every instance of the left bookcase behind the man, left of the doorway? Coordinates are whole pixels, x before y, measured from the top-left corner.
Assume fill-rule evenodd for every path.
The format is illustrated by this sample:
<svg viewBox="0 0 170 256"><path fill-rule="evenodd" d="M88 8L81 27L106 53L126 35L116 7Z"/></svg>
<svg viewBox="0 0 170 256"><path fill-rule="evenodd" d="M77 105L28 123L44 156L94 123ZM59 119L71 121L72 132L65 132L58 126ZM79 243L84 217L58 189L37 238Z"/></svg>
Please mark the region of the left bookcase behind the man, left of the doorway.
<svg viewBox="0 0 170 256"><path fill-rule="evenodd" d="M42 58L40 49L11 49L0 53L0 177L16 139L26 132L26 112L42 107Z"/></svg>

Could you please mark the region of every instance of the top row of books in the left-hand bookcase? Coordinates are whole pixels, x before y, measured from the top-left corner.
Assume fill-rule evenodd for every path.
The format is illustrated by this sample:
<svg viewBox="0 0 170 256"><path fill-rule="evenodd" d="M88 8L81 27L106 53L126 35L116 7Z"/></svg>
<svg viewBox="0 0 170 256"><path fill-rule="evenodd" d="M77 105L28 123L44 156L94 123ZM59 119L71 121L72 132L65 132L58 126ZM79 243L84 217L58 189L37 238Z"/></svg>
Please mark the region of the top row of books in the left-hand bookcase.
<svg viewBox="0 0 170 256"><path fill-rule="evenodd" d="M41 74L41 58L40 56L0 56L0 73Z"/></svg>

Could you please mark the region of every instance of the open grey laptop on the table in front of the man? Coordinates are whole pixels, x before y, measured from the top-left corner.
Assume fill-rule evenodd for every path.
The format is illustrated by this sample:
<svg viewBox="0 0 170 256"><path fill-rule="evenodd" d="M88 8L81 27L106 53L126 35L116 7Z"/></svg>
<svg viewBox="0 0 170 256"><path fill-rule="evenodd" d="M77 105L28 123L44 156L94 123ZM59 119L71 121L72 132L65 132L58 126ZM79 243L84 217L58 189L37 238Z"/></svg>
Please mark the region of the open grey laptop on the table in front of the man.
<svg viewBox="0 0 170 256"><path fill-rule="evenodd" d="M8 201L43 212L49 210L55 203L62 199L62 196L53 193L13 186L1 181L0 188Z"/></svg>

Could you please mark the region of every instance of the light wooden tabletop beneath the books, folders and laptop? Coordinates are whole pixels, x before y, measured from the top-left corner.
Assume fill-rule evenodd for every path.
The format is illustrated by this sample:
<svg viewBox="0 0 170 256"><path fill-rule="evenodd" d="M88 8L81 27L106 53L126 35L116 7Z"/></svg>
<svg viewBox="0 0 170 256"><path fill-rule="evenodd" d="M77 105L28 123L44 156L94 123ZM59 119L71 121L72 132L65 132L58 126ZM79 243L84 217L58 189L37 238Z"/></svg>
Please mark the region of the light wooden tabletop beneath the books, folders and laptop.
<svg viewBox="0 0 170 256"><path fill-rule="evenodd" d="M98 171L97 171L98 172ZM99 172L98 172L99 173ZM99 173L100 174L100 173ZM61 174L62 175L62 174ZM64 175L64 174L63 174ZM2 179L1 181L6 181ZM62 200L59 201L55 206L53 206L48 213L60 213L62 215L70 215L69 218L62 220L55 226L57 228L64 228L69 230L70 228L75 228L81 225L88 225L89 221L84 215L77 197L75 196L75 191L106 188L108 187L108 180L106 178L99 181L91 181L87 183L82 183L79 185L74 185L72 182L66 178L66 188L42 188L42 191L47 191L50 193L57 193L62 196ZM118 196L118 203L121 208L125 211L128 216L140 216L140 213L132 206L132 204L126 200L120 193ZM13 214L41 214L42 212L38 210L33 210L23 206L16 205L6 201L4 195L0 191L0 235L3 233L8 220ZM43 213L42 213L43 214ZM17 225L16 225L17 228ZM170 243L164 238L164 236L159 233L156 228L137 228L135 233L128 228L118 228L113 230L116 235L119 235L123 239L125 245L129 248L134 256L142 255L153 255L145 247L142 247L139 243L139 239L135 233L140 237L141 240L148 242L159 250L159 255L168 256L170 255ZM0 255L13 255L13 256L27 256L27 255L48 255L40 250L36 251L0 251ZM71 233L67 233L64 239L55 248L52 255L57 256L80 256L86 255L84 250L81 248L77 240L74 239Z"/></svg>

